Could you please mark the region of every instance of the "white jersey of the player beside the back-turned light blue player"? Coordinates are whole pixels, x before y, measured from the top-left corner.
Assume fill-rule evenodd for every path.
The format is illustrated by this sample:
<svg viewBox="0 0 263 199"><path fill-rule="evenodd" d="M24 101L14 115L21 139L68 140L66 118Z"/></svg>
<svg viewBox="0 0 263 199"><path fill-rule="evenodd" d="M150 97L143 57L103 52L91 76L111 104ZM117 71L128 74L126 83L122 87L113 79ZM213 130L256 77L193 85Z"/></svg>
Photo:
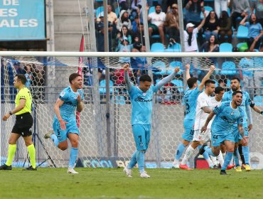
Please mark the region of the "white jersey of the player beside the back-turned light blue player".
<svg viewBox="0 0 263 199"><path fill-rule="evenodd" d="M196 109L195 109L195 125L194 130L201 129L203 125L205 125L205 121L208 118L208 113L203 111L203 107L209 107L209 102L212 97L205 94L205 92L201 92L198 96Z"/></svg>

